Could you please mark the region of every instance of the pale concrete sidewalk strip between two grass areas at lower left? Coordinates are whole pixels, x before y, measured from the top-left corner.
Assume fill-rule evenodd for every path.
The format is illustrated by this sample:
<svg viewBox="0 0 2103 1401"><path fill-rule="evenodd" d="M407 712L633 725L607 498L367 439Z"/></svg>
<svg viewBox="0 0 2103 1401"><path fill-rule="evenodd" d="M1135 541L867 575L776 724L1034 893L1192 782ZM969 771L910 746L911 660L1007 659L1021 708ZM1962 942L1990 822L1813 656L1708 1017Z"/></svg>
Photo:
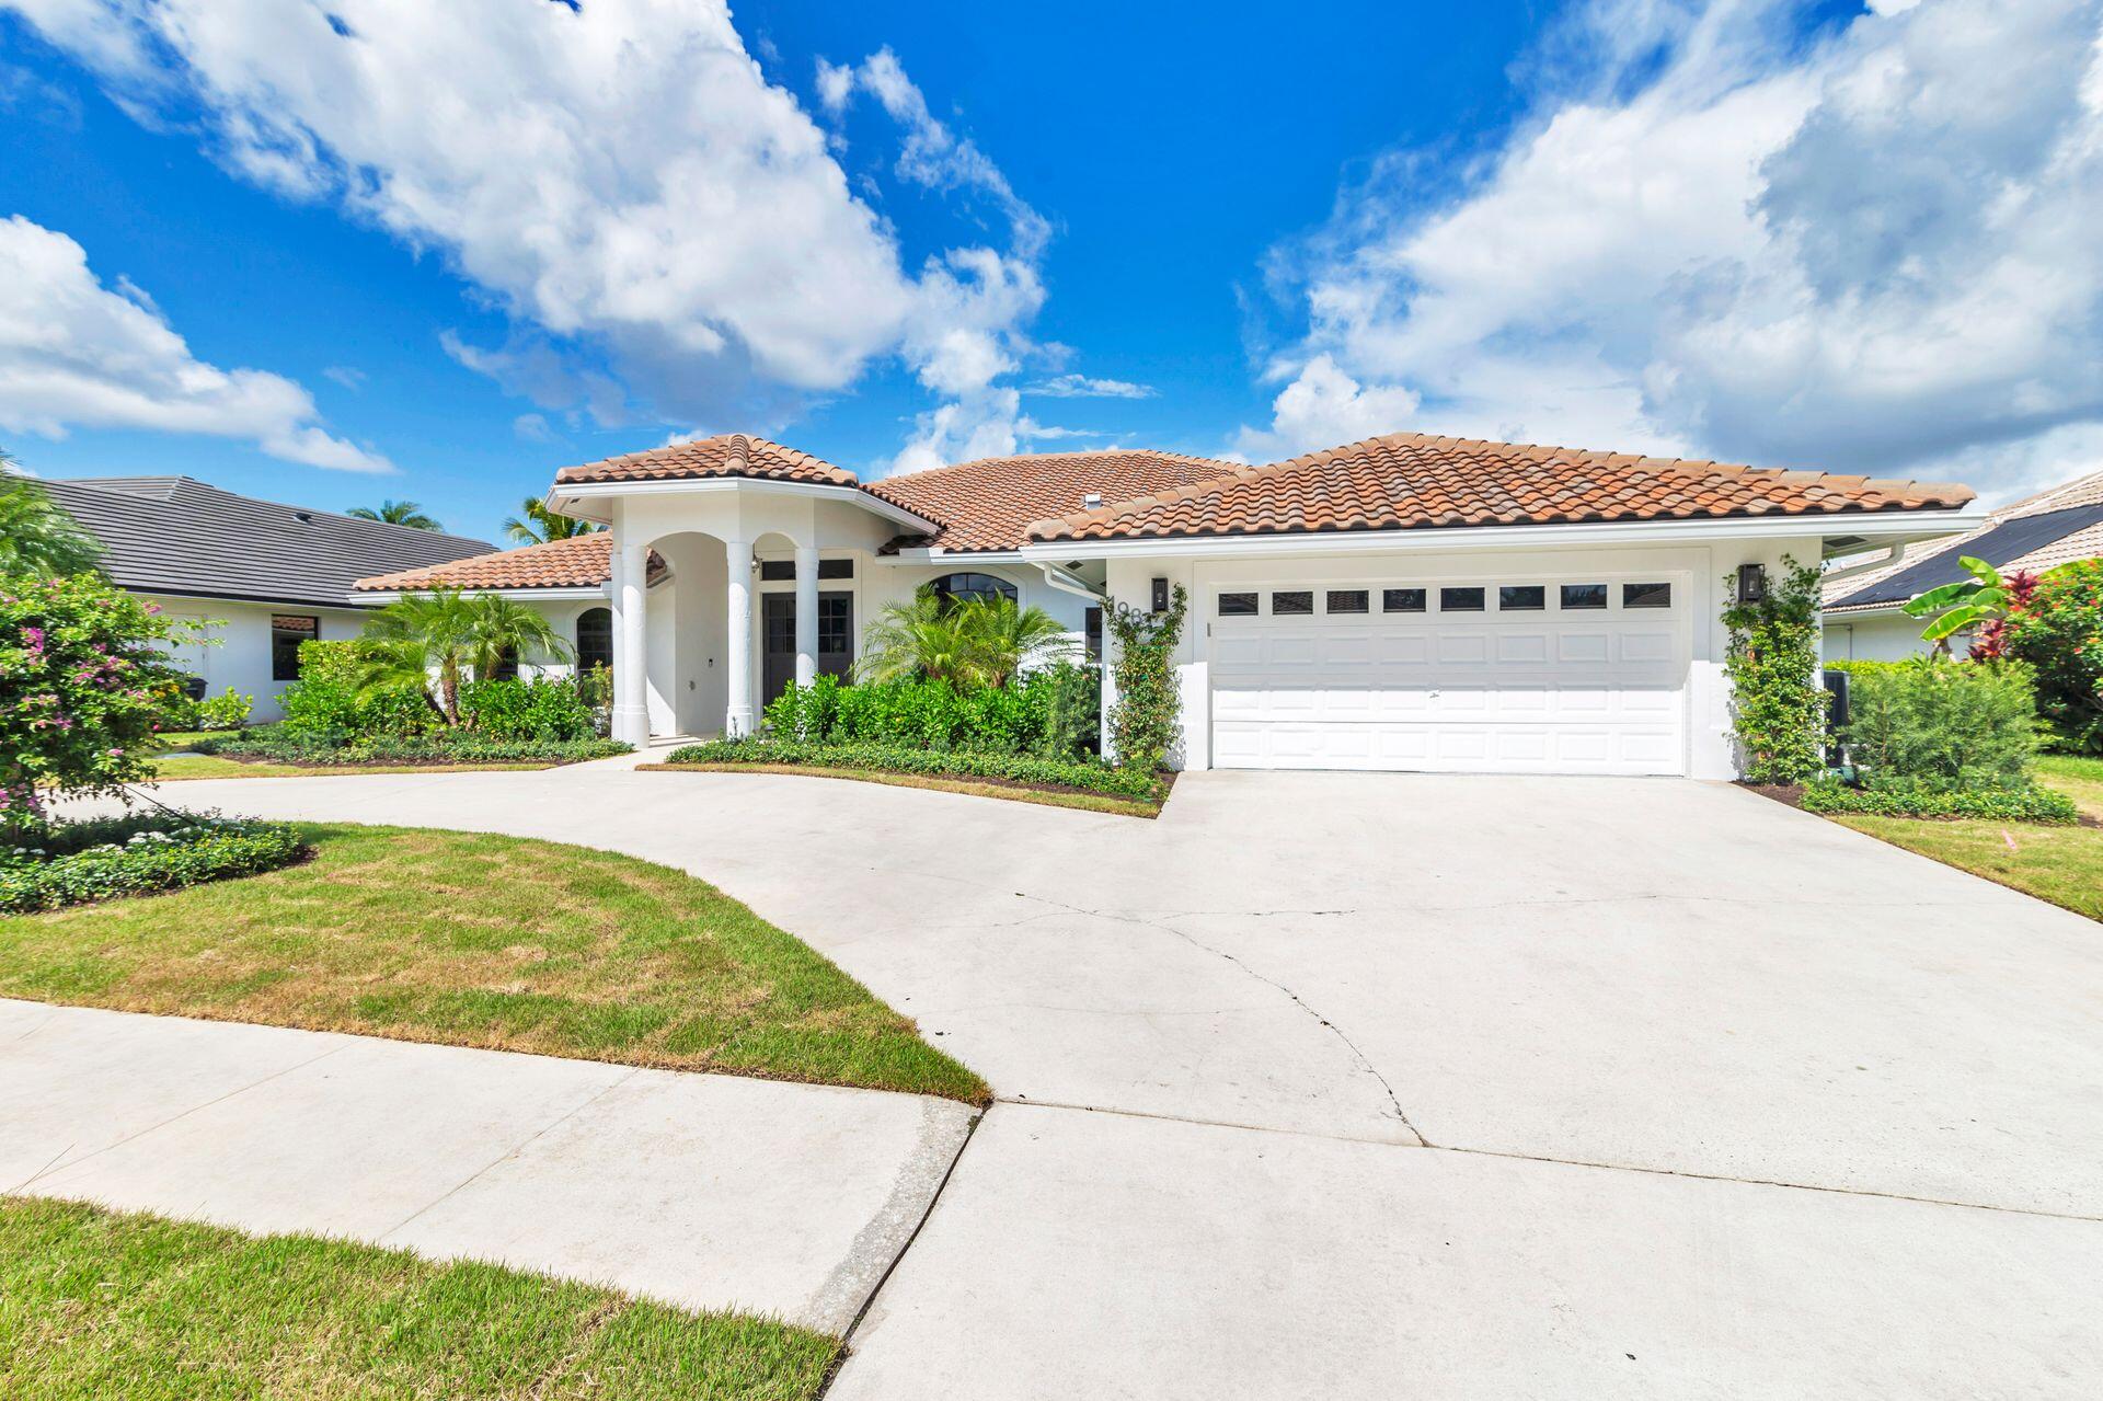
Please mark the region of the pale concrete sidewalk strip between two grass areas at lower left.
<svg viewBox="0 0 2103 1401"><path fill-rule="evenodd" d="M0 999L0 1191L843 1334L965 1104Z"/></svg>

